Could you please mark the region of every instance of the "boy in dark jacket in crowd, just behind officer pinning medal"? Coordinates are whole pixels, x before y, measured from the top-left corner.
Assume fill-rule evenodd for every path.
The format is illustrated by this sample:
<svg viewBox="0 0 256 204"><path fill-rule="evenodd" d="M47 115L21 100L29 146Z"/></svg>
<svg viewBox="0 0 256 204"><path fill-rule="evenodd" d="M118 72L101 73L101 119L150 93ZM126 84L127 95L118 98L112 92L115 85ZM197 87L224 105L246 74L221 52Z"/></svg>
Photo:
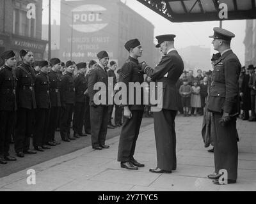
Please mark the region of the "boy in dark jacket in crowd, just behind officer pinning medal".
<svg viewBox="0 0 256 204"><path fill-rule="evenodd" d="M188 112L190 108L191 86L188 85L188 79L184 79L183 85L180 86L179 92L181 96L184 117L189 116Z"/></svg>

